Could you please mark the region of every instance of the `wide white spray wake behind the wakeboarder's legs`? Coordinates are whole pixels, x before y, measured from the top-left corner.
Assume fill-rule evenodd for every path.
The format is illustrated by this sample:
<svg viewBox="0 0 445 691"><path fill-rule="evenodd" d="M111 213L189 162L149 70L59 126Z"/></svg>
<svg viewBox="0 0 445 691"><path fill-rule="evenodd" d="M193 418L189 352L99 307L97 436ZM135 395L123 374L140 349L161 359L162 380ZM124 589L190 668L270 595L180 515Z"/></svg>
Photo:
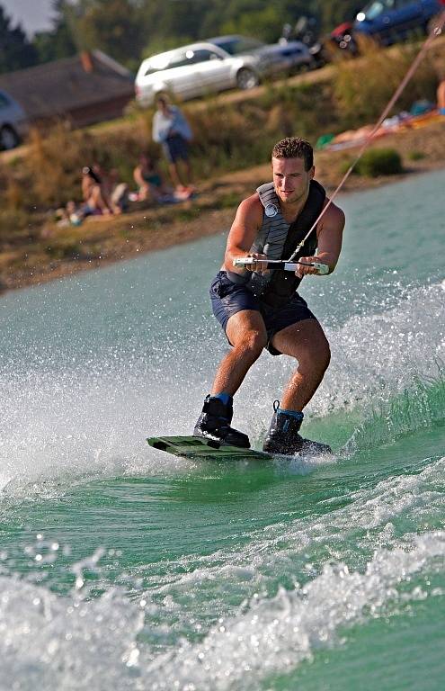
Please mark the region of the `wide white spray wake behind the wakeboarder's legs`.
<svg viewBox="0 0 445 691"><path fill-rule="evenodd" d="M331 417L346 411L347 436L362 448L443 421L444 301L438 283L413 290L391 310L327 328L333 359L307 407L304 434L321 425L329 443ZM13 371L11 363L0 370L0 489L177 471L182 461L164 454L161 462L145 438L191 434L221 352L218 330L207 328L203 339L202 329L195 340L178 339L174 363L170 350L156 346L156 357L147 358L101 351L81 369L67 358L63 367L34 362L27 370L23 357ZM234 425L253 440L269 425L271 402L292 366L289 358L263 354L236 395Z"/></svg>

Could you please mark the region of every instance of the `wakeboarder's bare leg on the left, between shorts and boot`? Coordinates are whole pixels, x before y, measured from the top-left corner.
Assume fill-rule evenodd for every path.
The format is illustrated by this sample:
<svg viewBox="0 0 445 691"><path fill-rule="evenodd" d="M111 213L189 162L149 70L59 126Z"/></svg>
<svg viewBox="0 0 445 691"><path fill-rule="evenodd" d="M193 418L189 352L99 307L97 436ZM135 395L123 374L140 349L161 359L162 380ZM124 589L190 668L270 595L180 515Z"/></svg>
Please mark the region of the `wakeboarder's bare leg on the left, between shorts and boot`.
<svg viewBox="0 0 445 691"><path fill-rule="evenodd" d="M267 344L263 317L256 310L242 310L232 315L227 321L226 334L233 347L219 363L212 396L222 392L233 396Z"/></svg>

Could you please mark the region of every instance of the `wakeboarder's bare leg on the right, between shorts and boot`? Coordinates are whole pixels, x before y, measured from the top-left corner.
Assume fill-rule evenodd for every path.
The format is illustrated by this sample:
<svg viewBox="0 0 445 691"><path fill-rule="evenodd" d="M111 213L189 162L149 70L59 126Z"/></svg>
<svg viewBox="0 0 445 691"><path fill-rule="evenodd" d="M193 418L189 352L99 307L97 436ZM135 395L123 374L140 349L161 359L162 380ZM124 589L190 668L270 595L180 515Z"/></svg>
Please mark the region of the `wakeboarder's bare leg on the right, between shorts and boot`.
<svg viewBox="0 0 445 691"><path fill-rule="evenodd" d="M283 392L281 407L301 412L318 389L331 359L325 333L316 319L304 319L275 334L271 345L298 360L298 368Z"/></svg>

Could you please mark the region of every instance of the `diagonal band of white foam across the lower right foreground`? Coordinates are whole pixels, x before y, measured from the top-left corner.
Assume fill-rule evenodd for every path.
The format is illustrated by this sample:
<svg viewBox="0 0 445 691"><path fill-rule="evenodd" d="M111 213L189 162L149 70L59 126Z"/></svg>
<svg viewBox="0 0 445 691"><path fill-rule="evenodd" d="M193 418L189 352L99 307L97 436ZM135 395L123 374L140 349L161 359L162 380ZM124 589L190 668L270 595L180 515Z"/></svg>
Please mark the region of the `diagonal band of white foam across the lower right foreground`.
<svg viewBox="0 0 445 691"><path fill-rule="evenodd" d="M148 672L154 691L257 688L262 678L310 659L317 648L337 642L340 627L390 615L400 603L428 597L422 588L400 595L397 585L427 564L443 568L445 533L415 536L409 552L380 550L363 572L343 563L326 564L304 588L254 598L244 614L222 619L198 644L182 642Z"/></svg>

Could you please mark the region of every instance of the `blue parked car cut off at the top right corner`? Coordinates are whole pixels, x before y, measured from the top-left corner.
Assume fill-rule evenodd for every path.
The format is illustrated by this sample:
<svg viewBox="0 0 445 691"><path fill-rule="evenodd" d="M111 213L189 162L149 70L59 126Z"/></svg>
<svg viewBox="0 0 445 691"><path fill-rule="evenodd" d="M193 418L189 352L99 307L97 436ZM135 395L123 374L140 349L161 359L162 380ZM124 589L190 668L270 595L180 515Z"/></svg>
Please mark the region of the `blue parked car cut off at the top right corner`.
<svg viewBox="0 0 445 691"><path fill-rule="evenodd" d="M374 0L357 14L353 31L388 46L414 31L428 31L432 17L443 9L443 0Z"/></svg>

